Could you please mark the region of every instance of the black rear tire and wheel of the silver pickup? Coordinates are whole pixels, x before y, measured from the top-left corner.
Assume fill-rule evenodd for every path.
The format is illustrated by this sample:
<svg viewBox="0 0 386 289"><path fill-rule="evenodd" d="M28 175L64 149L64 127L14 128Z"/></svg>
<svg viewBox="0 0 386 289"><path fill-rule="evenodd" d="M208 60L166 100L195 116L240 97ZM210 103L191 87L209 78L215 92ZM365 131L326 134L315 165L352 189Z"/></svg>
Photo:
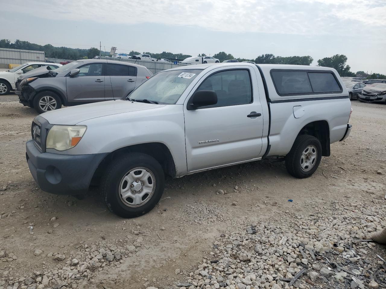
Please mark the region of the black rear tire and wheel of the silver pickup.
<svg viewBox="0 0 386 289"><path fill-rule="evenodd" d="M313 150L316 151L316 156L313 155ZM310 157L309 161L305 161L305 155ZM308 178L315 173L320 160L322 160L322 144L319 139L301 134L295 139L291 151L286 155L286 168L288 173L296 178Z"/></svg>

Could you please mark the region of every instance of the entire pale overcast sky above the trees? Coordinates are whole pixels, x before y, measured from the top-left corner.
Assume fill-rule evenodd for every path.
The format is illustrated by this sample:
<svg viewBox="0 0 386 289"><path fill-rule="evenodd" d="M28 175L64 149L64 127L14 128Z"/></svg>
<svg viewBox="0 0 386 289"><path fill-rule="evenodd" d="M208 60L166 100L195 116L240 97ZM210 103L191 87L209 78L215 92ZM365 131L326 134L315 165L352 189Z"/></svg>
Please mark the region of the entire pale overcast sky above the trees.
<svg viewBox="0 0 386 289"><path fill-rule="evenodd" d="M256 58L345 54L386 73L386 0L0 0L0 38L110 51Z"/></svg>

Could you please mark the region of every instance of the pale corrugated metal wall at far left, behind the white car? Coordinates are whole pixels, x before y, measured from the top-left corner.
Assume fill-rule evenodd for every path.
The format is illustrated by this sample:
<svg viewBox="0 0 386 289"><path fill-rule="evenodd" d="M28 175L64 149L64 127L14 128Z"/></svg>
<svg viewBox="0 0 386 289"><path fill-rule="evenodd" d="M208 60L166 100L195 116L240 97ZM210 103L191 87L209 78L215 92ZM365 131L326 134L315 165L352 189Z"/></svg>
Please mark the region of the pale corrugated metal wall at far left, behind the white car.
<svg viewBox="0 0 386 289"><path fill-rule="evenodd" d="M25 62L42 61L46 59L44 51L0 48L0 63L23 64Z"/></svg>

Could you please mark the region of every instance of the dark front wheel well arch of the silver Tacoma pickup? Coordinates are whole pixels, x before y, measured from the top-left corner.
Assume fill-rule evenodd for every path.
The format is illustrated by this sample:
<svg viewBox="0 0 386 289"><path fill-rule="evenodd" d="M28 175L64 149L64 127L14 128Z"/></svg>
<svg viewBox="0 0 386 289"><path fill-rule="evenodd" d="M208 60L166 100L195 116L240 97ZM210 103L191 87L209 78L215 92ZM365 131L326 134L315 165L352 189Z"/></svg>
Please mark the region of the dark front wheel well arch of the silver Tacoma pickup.
<svg viewBox="0 0 386 289"><path fill-rule="evenodd" d="M109 153L99 164L95 171L91 184L96 185L100 177L103 175L107 166L116 158L119 158L125 153L145 153L155 158L162 166L166 176L174 177L176 175L176 166L174 165L173 156L171 155L168 147L163 143L143 143L135 144L132 146L126 146L120 148L112 153Z"/></svg>

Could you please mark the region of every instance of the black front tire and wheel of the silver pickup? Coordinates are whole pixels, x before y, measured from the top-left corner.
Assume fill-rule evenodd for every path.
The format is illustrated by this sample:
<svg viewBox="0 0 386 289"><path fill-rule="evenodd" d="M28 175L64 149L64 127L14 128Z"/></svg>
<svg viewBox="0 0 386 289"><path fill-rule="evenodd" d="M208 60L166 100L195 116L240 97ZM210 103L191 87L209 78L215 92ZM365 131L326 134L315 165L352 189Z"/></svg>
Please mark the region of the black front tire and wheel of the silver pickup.
<svg viewBox="0 0 386 289"><path fill-rule="evenodd" d="M139 172L141 174L137 174ZM141 179L146 173L149 176ZM134 189L137 186L141 187L141 190L137 187L138 192L142 194L145 192L145 194L141 197L140 193L132 191L131 186ZM152 188L146 188L148 186ZM144 153L127 153L113 160L107 167L102 176L100 190L103 202L110 212L122 218L134 218L146 214L156 206L162 196L164 186L164 171L152 156ZM129 190L126 190L127 188ZM123 193L129 196L124 198Z"/></svg>

